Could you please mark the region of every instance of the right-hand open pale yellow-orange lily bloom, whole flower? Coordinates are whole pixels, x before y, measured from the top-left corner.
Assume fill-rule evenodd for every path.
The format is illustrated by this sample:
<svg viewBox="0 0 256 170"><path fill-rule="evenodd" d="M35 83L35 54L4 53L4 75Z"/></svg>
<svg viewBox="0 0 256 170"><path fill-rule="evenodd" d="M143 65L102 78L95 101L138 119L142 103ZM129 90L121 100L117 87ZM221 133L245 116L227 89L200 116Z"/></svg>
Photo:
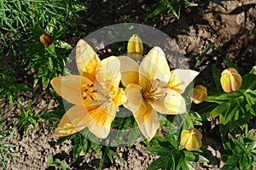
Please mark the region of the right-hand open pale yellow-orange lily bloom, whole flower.
<svg viewBox="0 0 256 170"><path fill-rule="evenodd" d="M157 112L170 115L186 112L181 94L198 72L170 71L166 56L159 47L152 48L140 65L129 57L119 59L121 81L126 87L127 102L124 105L132 111L140 131L150 140L160 126Z"/></svg>

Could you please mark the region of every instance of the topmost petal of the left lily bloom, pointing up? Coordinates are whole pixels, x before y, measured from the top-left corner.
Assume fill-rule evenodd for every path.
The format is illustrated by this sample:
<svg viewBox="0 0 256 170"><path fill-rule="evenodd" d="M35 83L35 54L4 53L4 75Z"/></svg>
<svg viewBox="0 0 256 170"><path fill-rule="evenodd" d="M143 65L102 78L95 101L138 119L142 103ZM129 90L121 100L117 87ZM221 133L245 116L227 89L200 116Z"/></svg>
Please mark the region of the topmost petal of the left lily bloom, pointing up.
<svg viewBox="0 0 256 170"><path fill-rule="evenodd" d="M80 75L88 77L91 82L95 82L96 67L101 60L90 45L80 39L76 48L76 62Z"/></svg>

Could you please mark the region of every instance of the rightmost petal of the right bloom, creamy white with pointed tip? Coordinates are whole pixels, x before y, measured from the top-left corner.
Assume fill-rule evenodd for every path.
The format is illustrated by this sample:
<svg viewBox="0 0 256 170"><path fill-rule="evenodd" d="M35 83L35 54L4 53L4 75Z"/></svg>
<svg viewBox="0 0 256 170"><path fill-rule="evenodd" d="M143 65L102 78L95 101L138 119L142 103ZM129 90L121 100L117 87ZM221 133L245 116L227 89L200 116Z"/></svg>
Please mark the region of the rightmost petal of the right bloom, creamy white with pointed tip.
<svg viewBox="0 0 256 170"><path fill-rule="evenodd" d="M189 83L199 74L193 70L176 69L171 71L171 78L168 82L169 88L177 91L179 94L183 94Z"/></svg>

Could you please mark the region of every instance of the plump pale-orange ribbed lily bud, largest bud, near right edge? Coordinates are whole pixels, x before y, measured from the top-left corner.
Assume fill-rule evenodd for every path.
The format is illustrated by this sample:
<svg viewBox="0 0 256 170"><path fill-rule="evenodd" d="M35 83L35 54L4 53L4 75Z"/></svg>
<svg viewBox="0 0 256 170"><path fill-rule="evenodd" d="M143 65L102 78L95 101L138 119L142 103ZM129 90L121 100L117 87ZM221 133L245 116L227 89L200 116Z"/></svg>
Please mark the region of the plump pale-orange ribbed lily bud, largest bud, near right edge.
<svg viewBox="0 0 256 170"><path fill-rule="evenodd" d="M226 93L234 92L241 87L241 76L234 68L228 68L221 73L220 83Z"/></svg>

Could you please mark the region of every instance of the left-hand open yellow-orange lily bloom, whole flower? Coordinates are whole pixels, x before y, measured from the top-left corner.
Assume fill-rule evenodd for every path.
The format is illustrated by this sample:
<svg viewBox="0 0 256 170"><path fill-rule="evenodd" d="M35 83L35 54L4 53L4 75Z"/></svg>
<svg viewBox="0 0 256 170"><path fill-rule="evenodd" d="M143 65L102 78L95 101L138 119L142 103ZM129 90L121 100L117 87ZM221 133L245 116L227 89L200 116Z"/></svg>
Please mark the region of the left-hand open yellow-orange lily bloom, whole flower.
<svg viewBox="0 0 256 170"><path fill-rule="evenodd" d="M51 80L56 93L74 105L62 116L56 135L68 136L88 127L96 137L105 139L118 106L126 101L119 88L120 61L114 56L101 61L93 48L80 40L76 62L80 75Z"/></svg>

